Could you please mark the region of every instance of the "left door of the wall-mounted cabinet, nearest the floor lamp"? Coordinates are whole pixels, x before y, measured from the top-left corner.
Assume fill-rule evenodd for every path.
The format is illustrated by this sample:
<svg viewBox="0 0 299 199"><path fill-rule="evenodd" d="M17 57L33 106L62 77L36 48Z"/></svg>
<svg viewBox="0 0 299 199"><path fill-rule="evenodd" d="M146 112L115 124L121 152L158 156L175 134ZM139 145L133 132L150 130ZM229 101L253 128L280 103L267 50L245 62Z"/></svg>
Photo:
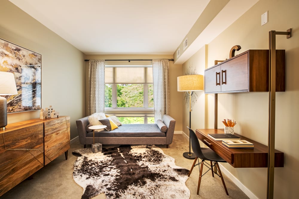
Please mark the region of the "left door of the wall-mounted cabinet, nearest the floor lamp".
<svg viewBox="0 0 299 199"><path fill-rule="evenodd" d="M221 92L220 65L205 71L205 93Z"/></svg>

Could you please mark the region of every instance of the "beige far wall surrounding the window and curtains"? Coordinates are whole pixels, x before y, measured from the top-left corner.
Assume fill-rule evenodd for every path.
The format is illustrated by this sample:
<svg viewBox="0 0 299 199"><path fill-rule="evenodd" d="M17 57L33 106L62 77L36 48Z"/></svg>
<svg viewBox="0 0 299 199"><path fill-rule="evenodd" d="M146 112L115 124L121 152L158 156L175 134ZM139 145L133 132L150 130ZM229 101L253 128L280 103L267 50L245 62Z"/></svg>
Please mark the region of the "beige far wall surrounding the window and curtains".
<svg viewBox="0 0 299 199"><path fill-rule="evenodd" d="M172 59L173 55L85 55L85 59ZM132 61L133 62L133 61ZM131 62L131 63L132 63ZM117 64L121 62L118 61ZM134 61L136 64L136 61ZM140 64L144 64L144 61L139 61ZM128 64L128 61L121 64ZM150 62L146 62L150 64ZM88 96L88 65L86 61L86 96ZM182 131L182 101L183 93L177 91L177 77L182 75L182 65L173 64L173 61L169 61L169 84L170 84L170 116L176 120L175 131ZM88 102L88 99L86 100ZM86 103L86 107L88 104ZM86 108L88 109L88 107Z"/></svg>

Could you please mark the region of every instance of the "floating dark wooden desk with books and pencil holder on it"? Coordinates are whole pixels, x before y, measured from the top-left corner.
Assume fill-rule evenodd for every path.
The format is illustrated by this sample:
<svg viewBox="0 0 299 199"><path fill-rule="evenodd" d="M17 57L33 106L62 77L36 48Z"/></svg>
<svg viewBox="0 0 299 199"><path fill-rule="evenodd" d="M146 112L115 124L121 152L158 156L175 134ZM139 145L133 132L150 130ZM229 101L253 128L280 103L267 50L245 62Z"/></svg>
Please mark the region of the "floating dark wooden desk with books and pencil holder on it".
<svg viewBox="0 0 299 199"><path fill-rule="evenodd" d="M195 134L231 166L235 168L256 168L268 166L268 146L260 144L242 135L237 135L241 140L254 144L253 149L231 149L222 144L222 141L213 140L208 133L224 133L224 129L196 129ZM283 167L283 152L275 150L275 167Z"/></svg>

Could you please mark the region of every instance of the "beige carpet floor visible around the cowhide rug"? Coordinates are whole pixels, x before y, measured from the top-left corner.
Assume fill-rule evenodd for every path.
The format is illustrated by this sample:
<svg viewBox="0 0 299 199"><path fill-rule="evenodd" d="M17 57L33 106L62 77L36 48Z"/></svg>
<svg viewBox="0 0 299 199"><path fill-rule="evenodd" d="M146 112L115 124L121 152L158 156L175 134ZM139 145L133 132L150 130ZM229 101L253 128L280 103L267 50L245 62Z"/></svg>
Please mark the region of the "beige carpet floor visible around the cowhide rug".
<svg viewBox="0 0 299 199"><path fill-rule="evenodd" d="M188 140L181 134L175 134L173 143L167 149L165 145L157 145L162 148L166 155L175 158L177 166L190 169L193 160L183 157L183 152L188 148ZM90 147L90 145L87 145ZM13 189L5 193L0 198L12 199L41 199L41 198L81 198L83 189L77 185L73 180L74 161L77 159L72 155L72 151L83 148L79 143L79 139L71 142L71 149L68 152L68 160L65 156L60 155L54 161L40 169L33 174L32 180L25 180ZM207 168L206 168L207 169ZM211 173L208 172L202 177L199 195L196 195L198 184L199 169L198 166L193 169L191 176L186 182L187 187L190 189L190 198L248 198L229 178L224 175L224 181L228 189L227 196L223 188L221 178L215 175L213 178ZM104 194L98 195L94 198L105 198Z"/></svg>

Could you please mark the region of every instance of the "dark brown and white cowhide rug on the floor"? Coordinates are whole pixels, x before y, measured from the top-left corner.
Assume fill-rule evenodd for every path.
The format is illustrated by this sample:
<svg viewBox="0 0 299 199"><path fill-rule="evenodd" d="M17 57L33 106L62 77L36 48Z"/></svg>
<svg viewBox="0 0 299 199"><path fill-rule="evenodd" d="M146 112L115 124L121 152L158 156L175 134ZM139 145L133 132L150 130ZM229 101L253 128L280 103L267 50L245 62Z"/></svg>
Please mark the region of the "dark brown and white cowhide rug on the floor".
<svg viewBox="0 0 299 199"><path fill-rule="evenodd" d="M152 145L123 145L93 153L73 151L74 181L83 187L82 198L105 193L106 198L189 198L185 185L189 170Z"/></svg>

